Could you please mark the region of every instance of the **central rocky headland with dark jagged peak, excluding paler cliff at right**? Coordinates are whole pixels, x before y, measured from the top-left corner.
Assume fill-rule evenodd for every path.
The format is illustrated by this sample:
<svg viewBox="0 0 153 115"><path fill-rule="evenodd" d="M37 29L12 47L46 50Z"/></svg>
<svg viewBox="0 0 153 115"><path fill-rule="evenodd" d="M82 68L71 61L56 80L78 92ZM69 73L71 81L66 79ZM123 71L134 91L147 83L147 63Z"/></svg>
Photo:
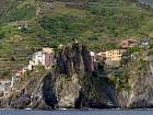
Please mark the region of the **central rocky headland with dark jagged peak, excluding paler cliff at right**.
<svg viewBox="0 0 153 115"><path fill-rule="evenodd" d="M115 84L91 68L86 46L73 43L58 49L57 65L46 74L32 76L8 100L11 108L104 108L118 106Z"/></svg>

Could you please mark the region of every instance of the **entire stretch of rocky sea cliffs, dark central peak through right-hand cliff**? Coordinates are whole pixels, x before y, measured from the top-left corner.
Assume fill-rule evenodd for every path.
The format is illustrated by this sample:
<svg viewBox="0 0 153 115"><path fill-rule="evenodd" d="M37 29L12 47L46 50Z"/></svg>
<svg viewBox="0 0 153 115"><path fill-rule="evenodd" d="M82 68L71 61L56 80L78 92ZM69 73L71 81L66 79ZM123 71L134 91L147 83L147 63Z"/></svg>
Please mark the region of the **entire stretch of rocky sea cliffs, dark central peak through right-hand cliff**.
<svg viewBox="0 0 153 115"><path fill-rule="evenodd" d="M57 50L51 70L23 78L5 100L11 108L139 108L153 106L152 50L126 57L106 74L102 62L91 68L86 46L73 43ZM45 74L44 74L45 73ZM25 83L26 82L26 83ZM17 90L16 90L17 89Z"/></svg>

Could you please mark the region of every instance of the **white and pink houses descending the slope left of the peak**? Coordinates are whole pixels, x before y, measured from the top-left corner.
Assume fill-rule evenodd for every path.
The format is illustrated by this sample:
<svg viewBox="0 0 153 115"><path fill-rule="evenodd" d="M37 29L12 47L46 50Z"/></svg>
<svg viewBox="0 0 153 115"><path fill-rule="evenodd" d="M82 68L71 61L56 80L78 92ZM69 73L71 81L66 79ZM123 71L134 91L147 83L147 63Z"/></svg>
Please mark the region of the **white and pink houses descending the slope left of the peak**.
<svg viewBox="0 0 153 115"><path fill-rule="evenodd" d="M21 79L21 77L27 71L33 70L35 66L43 65L46 69L51 68L55 65L54 59L54 49L52 48L43 48L40 51L36 51L33 55L32 60L30 60L28 66L23 69L17 70L11 80L0 80L0 97L7 96L12 90L14 83Z"/></svg>

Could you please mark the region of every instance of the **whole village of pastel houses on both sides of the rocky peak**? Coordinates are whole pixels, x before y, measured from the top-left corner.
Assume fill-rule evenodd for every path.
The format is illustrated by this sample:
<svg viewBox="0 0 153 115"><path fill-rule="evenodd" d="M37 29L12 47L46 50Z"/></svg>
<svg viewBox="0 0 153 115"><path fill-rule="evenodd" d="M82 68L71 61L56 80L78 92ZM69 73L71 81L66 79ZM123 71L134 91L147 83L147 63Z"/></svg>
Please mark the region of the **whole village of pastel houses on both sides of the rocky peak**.
<svg viewBox="0 0 153 115"><path fill-rule="evenodd" d="M97 60L101 60L106 67L118 68L121 65L121 59L123 56L127 56L126 53L129 48L132 47L143 47L148 48L151 41L149 38L142 38L141 41L136 41L134 38L125 39L119 43L119 49L103 50L103 51L89 51L91 58L91 69L95 70L95 65ZM74 41L74 44L80 44L79 41ZM62 49L64 45L59 45L58 48ZM130 57L133 57L133 54L130 54ZM43 47L42 50L38 50L33 54L32 59L28 65L16 70L12 79L0 80L0 99L3 96L9 96L10 91L12 91L16 81L20 81L23 74L26 71L33 71L36 66L44 66L45 69L51 69L52 66L57 64L56 53L54 48Z"/></svg>

